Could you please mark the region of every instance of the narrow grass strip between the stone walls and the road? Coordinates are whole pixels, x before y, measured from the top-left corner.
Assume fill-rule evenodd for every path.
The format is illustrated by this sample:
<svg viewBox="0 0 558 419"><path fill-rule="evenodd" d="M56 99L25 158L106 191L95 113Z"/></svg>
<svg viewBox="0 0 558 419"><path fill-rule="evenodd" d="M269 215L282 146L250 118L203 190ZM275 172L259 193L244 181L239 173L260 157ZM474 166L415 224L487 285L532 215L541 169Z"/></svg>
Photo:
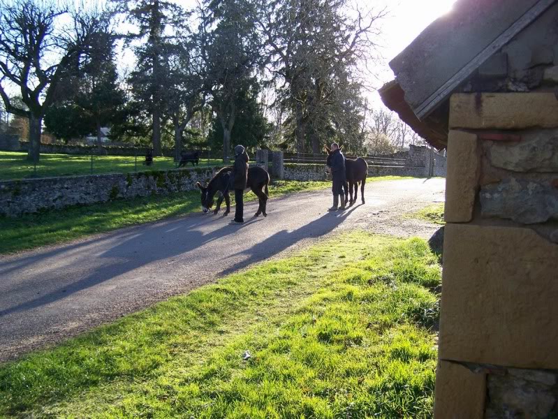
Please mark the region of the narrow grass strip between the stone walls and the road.
<svg viewBox="0 0 558 419"><path fill-rule="evenodd" d="M369 180L372 179L379 181L401 178L390 176ZM270 196L274 198L287 193L327 189L330 186L330 182L277 181L272 182L270 186ZM256 200L256 196L249 193L246 200ZM69 207L63 211L27 214L18 218L0 217L0 254L68 242L87 235L196 212L199 209L200 194L198 191L192 191L170 196L114 200L109 203Z"/></svg>

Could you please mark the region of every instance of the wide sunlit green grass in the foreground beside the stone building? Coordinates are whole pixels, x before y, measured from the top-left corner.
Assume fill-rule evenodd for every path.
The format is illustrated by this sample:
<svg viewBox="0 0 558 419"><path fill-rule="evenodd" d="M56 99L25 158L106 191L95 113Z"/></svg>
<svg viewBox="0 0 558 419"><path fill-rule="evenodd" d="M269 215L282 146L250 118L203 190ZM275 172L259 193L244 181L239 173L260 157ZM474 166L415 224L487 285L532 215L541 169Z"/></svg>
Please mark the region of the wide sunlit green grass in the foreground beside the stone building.
<svg viewBox="0 0 558 419"><path fill-rule="evenodd" d="M344 233L0 366L0 416L429 418L439 284L423 240Z"/></svg>

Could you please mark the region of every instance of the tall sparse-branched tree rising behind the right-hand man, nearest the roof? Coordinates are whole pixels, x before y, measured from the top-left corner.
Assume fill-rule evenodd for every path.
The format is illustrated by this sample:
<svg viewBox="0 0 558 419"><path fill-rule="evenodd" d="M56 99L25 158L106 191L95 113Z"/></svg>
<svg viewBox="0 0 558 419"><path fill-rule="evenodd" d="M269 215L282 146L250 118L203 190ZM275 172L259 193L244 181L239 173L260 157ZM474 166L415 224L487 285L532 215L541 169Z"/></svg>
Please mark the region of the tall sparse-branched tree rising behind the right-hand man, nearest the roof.
<svg viewBox="0 0 558 419"><path fill-rule="evenodd" d="M358 128L360 121L346 121L360 107L355 69L371 58L383 11L346 13L347 0L259 3L256 23L265 38L268 70L283 84L279 91L293 113L298 152L304 152L307 138L314 151L320 149L324 130L332 135L341 126Z"/></svg>

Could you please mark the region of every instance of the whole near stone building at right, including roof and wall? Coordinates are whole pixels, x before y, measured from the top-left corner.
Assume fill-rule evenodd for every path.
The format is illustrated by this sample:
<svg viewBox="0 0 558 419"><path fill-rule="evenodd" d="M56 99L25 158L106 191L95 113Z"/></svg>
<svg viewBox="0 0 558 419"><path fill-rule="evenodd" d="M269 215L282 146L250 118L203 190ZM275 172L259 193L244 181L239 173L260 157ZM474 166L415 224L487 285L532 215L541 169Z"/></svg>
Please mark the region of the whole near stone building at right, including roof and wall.
<svg viewBox="0 0 558 419"><path fill-rule="evenodd" d="M448 153L434 417L558 418L558 0L458 0L390 67Z"/></svg>

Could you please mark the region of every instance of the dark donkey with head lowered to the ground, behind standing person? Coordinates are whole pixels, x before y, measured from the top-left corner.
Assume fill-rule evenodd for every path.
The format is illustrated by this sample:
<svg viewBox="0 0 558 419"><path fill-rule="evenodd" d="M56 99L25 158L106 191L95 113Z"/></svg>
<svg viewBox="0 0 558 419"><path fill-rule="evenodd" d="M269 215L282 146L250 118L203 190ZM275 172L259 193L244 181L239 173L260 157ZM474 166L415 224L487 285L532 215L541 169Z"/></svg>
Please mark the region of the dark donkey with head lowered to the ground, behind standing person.
<svg viewBox="0 0 558 419"><path fill-rule="evenodd" d="M202 192L203 212L208 212L213 206L216 194L219 194L219 197L217 198L217 206L215 207L213 214L217 214L217 212L219 212L221 203L223 203L223 198L225 199L225 203L227 205L225 215L230 212L228 183L231 172L233 172L233 168L222 168L221 170L219 170L219 172L216 172L216 175L213 177L213 179L210 180L210 183L208 183L207 186L202 186L200 182L196 183L196 186L198 186L198 188L200 188L200 191ZM270 175L263 168L254 166L253 168L248 169L247 190L254 192L254 194L256 194L256 196L258 197L258 201L260 203L260 205L258 206L258 212L256 212L254 216L258 216L260 214L263 214L263 216L267 216L265 207L267 205L267 198L269 198L270 196L269 191L267 191L267 186L269 186L269 184Z"/></svg>

